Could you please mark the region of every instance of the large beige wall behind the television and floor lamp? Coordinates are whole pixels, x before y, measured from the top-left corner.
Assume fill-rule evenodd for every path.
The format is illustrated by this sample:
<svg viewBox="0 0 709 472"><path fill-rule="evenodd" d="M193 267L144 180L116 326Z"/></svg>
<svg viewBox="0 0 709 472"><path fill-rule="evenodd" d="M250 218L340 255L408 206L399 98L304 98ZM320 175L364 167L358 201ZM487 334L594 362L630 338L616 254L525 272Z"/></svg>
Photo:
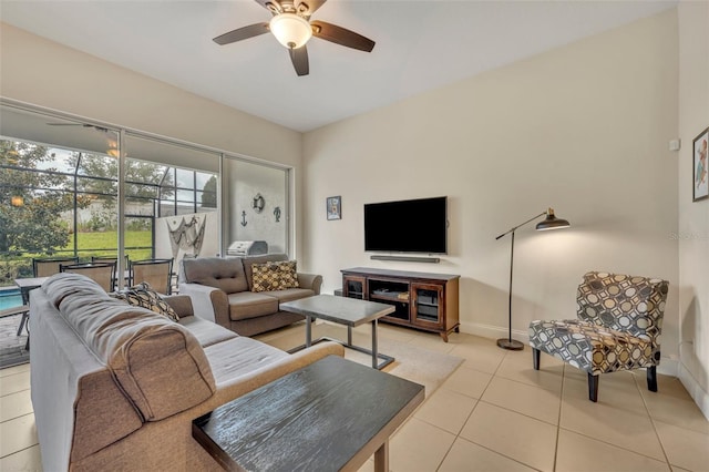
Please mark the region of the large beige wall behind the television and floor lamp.
<svg viewBox="0 0 709 472"><path fill-rule="evenodd" d="M572 228L516 233L516 336L575 317L587 270L662 277L664 368L676 370L677 34L671 10L307 133L304 255L323 290L351 266L460 274L462 329L503 337L510 238L495 236L553 206ZM331 195L341 220L326 220ZM438 195L449 196L441 264L370 260L364 203Z"/></svg>

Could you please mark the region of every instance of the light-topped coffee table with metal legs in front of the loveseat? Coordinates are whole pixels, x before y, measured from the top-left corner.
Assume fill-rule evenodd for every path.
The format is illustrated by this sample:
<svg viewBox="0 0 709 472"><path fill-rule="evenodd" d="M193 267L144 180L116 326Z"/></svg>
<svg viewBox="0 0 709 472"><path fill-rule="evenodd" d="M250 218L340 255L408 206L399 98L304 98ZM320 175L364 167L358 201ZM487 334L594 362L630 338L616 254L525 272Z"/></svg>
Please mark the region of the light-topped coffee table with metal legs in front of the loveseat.
<svg viewBox="0 0 709 472"><path fill-rule="evenodd" d="M378 304L356 298L336 297L333 295L316 295L315 297L301 298L299 300L280 304L280 309L284 311L304 315L306 317L306 343L291 349L289 352L295 352L317 342L327 340L339 342L346 348L371 355L372 367L374 369L381 370L394 361L393 357L379 352L377 341L377 320L384 315L393 312L395 308L392 305ZM325 336L314 341L312 320L316 318L347 326L347 342ZM371 349L354 346L352 343L352 328L366 322L370 322L372 325ZM379 362L379 359L382 361Z"/></svg>

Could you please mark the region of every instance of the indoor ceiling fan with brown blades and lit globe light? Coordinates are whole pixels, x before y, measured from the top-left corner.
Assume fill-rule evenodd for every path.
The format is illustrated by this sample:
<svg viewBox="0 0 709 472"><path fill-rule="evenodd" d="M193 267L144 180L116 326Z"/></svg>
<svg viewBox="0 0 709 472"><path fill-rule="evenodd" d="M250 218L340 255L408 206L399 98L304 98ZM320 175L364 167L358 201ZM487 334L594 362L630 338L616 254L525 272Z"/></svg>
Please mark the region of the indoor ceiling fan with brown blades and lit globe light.
<svg viewBox="0 0 709 472"><path fill-rule="evenodd" d="M320 38L347 48L371 52L374 41L353 31L325 21L310 21L327 0L255 0L270 11L269 22L249 24L214 38L220 45L254 38L270 31L278 42L288 48L292 66L298 75L308 75L308 50L306 43L311 37Z"/></svg>

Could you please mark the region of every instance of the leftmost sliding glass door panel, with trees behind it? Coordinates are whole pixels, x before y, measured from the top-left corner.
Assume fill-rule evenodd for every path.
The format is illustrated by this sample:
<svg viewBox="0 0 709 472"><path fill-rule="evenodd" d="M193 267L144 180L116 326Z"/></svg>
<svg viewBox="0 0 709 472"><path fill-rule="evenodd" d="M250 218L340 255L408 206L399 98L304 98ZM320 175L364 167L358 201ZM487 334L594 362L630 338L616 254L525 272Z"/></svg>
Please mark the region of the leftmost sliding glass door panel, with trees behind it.
<svg viewBox="0 0 709 472"><path fill-rule="evenodd" d="M91 260L117 249L119 133L0 107L0 287L32 276L32 259Z"/></svg>

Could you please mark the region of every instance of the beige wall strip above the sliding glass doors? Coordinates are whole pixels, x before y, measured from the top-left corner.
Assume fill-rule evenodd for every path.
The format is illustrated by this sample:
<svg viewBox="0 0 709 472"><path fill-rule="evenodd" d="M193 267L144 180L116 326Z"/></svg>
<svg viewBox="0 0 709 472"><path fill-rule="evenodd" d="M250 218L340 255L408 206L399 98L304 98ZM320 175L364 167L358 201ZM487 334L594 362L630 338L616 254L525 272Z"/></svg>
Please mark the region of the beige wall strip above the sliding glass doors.
<svg viewBox="0 0 709 472"><path fill-rule="evenodd" d="M0 23L0 57L3 98L284 164L295 170L291 192L300 188L301 134L296 131L7 23ZM290 201L295 213L299 196Z"/></svg>

